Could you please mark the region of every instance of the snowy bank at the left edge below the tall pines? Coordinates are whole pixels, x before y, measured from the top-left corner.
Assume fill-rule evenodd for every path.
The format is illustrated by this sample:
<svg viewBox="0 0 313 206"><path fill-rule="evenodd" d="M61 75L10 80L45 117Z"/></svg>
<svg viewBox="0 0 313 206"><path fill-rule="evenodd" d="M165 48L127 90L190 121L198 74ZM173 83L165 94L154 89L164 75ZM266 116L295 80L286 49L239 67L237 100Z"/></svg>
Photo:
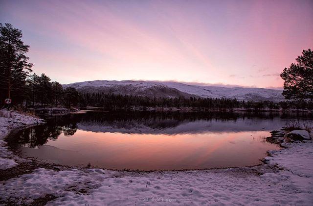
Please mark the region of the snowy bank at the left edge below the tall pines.
<svg viewBox="0 0 313 206"><path fill-rule="evenodd" d="M7 169L18 165L15 160L23 161L7 149L3 138L12 130L25 126L42 124L45 121L35 116L25 115L17 111L0 109L0 169ZM13 160L14 158L15 160Z"/></svg>

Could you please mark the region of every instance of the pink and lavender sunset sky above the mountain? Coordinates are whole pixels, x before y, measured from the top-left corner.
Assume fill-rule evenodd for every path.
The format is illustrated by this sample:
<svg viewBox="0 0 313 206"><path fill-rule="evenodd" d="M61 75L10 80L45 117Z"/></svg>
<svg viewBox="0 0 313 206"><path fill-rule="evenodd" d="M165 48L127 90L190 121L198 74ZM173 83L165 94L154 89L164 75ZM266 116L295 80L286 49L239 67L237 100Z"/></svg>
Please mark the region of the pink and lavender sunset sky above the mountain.
<svg viewBox="0 0 313 206"><path fill-rule="evenodd" d="M313 0L0 0L36 74L277 88L313 49Z"/></svg>

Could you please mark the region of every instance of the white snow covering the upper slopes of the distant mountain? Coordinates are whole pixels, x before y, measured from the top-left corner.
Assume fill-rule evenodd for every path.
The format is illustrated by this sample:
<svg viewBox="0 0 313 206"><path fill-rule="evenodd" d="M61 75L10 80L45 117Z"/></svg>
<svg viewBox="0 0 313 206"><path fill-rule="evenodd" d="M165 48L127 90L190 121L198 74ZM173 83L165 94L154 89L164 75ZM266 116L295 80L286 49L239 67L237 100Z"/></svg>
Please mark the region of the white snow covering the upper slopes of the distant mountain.
<svg viewBox="0 0 313 206"><path fill-rule="evenodd" d="M186 83L179 83L173 81L134 81L134 80L95 80L84 81L63 85L80 89L83 87L113 87L113 86L127 86L132 85L138 89L150 88L153 86L175 88L181 92L196 95L203 98L232 98L238 100L275 100L282 101L281 90L263 89L263 88L244 88L244 87L219 87L219 86L197 86Z"/></svg>

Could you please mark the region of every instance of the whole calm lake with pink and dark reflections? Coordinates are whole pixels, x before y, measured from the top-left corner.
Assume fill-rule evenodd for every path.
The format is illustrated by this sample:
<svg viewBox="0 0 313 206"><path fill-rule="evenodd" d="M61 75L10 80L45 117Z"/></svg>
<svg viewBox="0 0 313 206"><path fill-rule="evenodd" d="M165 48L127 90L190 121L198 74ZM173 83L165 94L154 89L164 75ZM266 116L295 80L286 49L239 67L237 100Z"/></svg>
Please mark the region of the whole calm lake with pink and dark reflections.
<svg viewBox="0 0 313 206"><path fill-rule="evenodd" d="M312 116L89 111L47 119L7 139L24 157L70 166L182 170L261 163L269 131Z"/></svg>

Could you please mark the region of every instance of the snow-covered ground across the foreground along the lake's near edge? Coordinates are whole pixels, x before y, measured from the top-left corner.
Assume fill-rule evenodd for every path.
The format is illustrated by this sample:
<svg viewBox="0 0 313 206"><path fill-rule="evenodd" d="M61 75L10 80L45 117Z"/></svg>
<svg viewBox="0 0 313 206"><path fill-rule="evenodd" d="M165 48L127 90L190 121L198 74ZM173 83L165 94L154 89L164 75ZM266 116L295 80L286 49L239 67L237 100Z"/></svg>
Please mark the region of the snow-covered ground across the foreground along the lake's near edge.
<svg viewBox="0 0 313 206"><path fill-rule="evenodd" d="M6 121L0 121L3 137L15 126L4 128ZM1 155L2 150L10 153L1 146ZM312 140L283 146L287 148L270 152L267 164L247 168L150 173L39 168L0 182L0 204L34 204L47 199L49 202L43 201L47 205L90 206L313 205Z"/></svg>

